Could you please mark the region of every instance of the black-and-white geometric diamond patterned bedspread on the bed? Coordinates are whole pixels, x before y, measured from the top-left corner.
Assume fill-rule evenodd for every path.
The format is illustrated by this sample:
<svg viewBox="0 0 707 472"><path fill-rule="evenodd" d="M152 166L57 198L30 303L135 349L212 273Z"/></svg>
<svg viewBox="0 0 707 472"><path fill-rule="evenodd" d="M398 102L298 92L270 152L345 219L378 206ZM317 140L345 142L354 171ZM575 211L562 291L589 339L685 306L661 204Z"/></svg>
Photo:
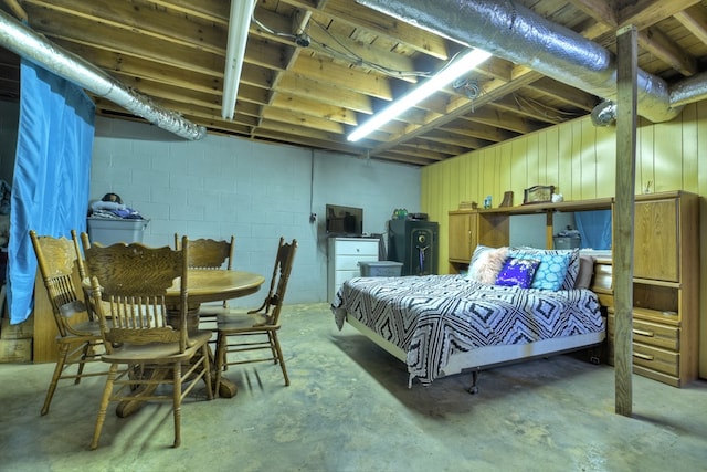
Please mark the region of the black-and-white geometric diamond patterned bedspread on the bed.
<svg viewBox="0 0 707 472"><path fill-rule="evenodd" d="M423 384L456 352L605 329L590 290L485 285L462 275L351 279L331 311L339 329L348 314L404 350L410 381Z"/></svg>

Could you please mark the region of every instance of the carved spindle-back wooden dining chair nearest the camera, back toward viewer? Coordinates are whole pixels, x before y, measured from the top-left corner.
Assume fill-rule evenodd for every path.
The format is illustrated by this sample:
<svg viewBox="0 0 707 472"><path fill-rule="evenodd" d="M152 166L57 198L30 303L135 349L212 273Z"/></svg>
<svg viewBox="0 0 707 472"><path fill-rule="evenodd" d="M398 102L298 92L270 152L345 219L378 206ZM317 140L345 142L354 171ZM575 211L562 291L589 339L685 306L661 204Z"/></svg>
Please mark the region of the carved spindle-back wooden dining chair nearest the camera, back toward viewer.
<svg viewBox="0 0 707 472"><path fill-rule="evenodd" d="M102 360L110 364L91 449L98 445L110 401L124 406L171 401L177 448L181 442L183 398L200 380L205 381L208 398L213 398L208 347L211 332L188 333L188 244L183 238L182 250L147 248L141 243L94 243L84 248L106 345ZM166 302L173 283L179 284L177 306ZM127 369L118 371L118 366ZM157 387L162 384L171 385L172 392L160 394Z"/></svg>

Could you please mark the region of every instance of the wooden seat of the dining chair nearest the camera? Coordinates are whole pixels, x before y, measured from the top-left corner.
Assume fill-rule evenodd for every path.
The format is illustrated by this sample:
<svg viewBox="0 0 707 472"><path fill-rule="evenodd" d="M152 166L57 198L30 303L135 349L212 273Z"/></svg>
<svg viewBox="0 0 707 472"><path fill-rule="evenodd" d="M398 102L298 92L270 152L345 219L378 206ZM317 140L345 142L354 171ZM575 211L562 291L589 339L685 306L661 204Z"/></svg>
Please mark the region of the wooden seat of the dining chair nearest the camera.
<svg viewBox="0 0 707 472"><path fill-rule="evenodd" d="M188 347L179 353L179 343L127 344L114 348L113 353L104 354L101 360L113 364L172 364L180 359L194 356L211 338L210 331L199 331L189 334Z"/></svg>

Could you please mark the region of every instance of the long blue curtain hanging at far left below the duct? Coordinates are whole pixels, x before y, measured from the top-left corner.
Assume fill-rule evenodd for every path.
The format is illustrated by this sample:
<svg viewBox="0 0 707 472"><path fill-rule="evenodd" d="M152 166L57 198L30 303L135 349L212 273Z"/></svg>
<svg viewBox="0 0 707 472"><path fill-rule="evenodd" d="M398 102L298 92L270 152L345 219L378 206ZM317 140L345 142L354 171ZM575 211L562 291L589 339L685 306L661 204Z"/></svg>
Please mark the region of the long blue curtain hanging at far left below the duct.
<svg viewBox="0 0 707 472"><path fill-rule="evenodd" d="M36 258L29 230L86 229L95 105L73 83L22 60L20 124L10 203L10 322L32 312Z"/></svg>

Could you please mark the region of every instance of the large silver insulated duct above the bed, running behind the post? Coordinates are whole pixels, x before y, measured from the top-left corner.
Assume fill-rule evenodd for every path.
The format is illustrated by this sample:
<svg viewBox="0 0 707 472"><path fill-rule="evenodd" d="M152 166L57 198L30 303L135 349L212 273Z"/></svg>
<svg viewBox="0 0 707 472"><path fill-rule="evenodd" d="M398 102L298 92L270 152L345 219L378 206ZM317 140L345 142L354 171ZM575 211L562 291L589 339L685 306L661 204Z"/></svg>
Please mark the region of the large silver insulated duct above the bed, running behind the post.
<svg viewBox="0 0 707 472"><path fill-rule="evenodd" d="M526 65L605 99L616 95L613 53L510 0L357 0L407 23L495 56ZM668 87L639 71L639 114L654 123L673 119ZM602 112L608 112L602 108ZM606 118L606 116L604 116Z"/></svg>

